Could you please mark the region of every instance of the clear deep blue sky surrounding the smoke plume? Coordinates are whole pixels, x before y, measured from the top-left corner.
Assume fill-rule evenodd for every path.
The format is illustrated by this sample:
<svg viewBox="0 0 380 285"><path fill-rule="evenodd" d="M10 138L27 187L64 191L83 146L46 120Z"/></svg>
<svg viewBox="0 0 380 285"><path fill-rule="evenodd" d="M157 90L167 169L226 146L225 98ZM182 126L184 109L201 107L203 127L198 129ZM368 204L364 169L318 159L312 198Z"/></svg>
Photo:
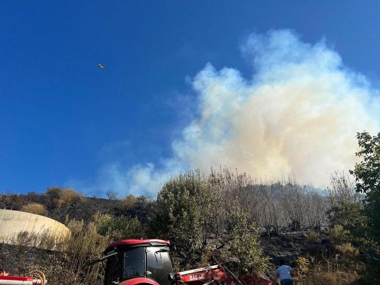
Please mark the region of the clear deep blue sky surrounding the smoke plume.
<svg viewBox="0 0 380 285"><path fill-rule="evenodd" d="M154 192L139 185L162 168L161 180L205 167L173 149L204 111L194 77L210 62L252 78L257 66L242 54L251 33L325 39L369 97L379 87L379 1L3 0L0 10L0 191L138 194ZM132 189L142 168L150 174Z"/></svg>

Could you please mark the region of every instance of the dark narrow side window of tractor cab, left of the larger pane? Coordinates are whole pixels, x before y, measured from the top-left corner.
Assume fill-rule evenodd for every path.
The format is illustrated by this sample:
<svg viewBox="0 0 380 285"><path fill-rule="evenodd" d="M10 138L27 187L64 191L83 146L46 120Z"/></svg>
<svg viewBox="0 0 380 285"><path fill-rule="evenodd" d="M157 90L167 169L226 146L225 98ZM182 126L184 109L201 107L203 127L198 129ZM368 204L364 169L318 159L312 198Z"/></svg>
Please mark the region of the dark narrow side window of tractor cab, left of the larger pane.
<svg viewBox="0 0 380 285"><path fill-rule="evenodd" d="M138 247L124 252L123 278L145 276L145 248Z"/></svg>

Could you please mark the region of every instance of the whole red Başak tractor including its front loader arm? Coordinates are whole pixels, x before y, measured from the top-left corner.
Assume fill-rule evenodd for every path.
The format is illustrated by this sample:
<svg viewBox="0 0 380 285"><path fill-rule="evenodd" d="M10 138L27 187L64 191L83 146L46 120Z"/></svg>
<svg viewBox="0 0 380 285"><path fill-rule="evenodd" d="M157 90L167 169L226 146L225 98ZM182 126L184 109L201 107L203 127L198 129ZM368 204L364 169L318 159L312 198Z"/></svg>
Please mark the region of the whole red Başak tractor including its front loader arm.
<svg viewBox="0 0 380 285"><path fill-rule="evenodd" d="M169 241L163 240L121 240L91 264L105 259L104 285L272 285L257 275L240 281L223 264L173 272Z"/></svg>

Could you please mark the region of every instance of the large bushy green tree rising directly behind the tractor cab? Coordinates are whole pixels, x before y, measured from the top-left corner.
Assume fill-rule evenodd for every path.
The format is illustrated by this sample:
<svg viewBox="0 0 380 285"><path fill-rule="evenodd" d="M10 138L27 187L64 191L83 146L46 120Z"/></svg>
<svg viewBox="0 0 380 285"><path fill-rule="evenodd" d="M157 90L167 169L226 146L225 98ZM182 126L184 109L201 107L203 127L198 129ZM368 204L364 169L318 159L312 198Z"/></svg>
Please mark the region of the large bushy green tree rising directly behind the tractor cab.
<svg viewBox="0 0 380 285"><path fill-rule="evenodd" d="M223 233L223 176L211 169L180 174L164 184L157 198L156 232L189 253L204 249Z"/></svg>

